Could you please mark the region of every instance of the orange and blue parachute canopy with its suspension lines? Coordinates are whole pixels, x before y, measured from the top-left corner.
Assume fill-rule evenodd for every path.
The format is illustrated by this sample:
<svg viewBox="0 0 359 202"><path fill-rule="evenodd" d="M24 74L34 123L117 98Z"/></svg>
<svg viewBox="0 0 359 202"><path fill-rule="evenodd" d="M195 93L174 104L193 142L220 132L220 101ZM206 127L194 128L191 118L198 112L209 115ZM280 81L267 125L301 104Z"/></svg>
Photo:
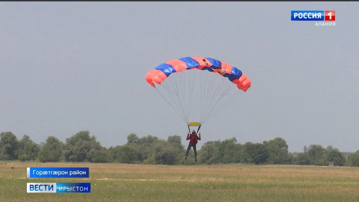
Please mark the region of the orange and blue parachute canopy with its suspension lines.
<svg viewBox="0 0 359 202"><path fill-rule="evenodd" d="M188 130L198 126L197 133L205 121L251 86L251 80L241 70L208 57L172 59L150 70L145 78L187 124ZM198 80L199 88L195 88ZM198 92L193 93L195 90ZM199 101L199 122L189 122L194 101Z"/></svg>

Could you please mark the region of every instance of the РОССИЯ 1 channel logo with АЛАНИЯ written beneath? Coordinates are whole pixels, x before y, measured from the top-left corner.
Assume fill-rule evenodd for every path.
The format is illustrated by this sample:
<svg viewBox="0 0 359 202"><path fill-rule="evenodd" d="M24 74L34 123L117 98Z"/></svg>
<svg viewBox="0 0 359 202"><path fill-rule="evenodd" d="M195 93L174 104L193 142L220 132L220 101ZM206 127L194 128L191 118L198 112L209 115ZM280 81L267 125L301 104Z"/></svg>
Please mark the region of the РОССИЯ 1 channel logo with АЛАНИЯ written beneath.
<svg viewBox="0 0 359 202"><path fill-rule="evenodd" d="M292 10L292 21L323 21L316 26L335 26L335 10Z"/></svg>

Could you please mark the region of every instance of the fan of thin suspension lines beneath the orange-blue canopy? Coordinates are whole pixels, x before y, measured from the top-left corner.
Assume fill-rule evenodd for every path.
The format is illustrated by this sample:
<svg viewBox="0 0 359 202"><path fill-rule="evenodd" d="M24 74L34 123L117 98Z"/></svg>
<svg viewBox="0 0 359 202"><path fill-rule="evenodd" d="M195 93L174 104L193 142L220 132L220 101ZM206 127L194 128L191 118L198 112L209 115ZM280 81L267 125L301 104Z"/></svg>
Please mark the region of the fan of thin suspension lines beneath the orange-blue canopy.
<svg viewBox="0 0 359 202"><path fill-rule="evenodd" d="M165 101L176 111L181 119L188 125L189 116L192 110L194 84L196 81L196 73L199 73L199 122L197 133L201 125L210 117L214 116L221 109L232 102L242 91L235 84L230 82L228 78L218 75L218 71L210 72L207 70L187 69L182 72L171 74L169 79L165 79L161 85L156 86L157 92L165 99ZM188 86L187 86L188 85ZM162 90L162 88L164 88ZM234 90L236 93L231 92ZM167 91L167 93L165 93ZM233 94L233 95L232 95ZM165 96L166 95L166 96Z"/></svg>

